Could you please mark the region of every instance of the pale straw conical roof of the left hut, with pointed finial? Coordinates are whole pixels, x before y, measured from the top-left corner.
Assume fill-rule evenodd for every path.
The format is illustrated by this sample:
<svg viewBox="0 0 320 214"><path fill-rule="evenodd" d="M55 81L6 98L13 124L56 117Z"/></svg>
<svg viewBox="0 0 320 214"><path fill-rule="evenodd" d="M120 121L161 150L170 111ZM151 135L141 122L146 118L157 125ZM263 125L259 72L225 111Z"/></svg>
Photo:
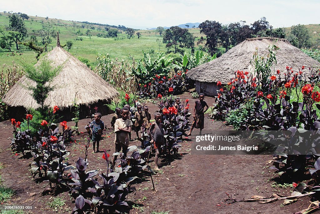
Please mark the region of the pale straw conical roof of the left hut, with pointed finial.
<svg viewBox="0 0 320 214"><path fill-rule="evenodd" d="M60 73L50 83L54 89L45 100L45 105L68 107L73 105L75 98L77 104L87 105L118 95L115 88L63 48L54 48L46 58L52 61L53 67L61 65L62 67ZM40 62L35 66L39 64ZM23 76L8 91L4 102L10 106L23 106L27 109L40 107L27 88L30 85L36 86L36 83Z"/></svg>

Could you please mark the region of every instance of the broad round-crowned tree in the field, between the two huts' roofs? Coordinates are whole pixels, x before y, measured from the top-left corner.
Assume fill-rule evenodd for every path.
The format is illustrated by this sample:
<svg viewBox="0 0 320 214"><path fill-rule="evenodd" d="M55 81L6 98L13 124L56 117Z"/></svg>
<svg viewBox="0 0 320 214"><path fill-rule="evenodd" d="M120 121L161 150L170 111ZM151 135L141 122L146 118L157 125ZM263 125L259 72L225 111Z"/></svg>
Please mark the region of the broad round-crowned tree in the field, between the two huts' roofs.
<svg viewBox="0 0 320 214"><path fill-rule="evenodd" d="M192 39L194 43L195 39L187 29L172 26L165 31L163 43L167 43L166 47L168 48L168 52L170 52L170 48L174 48L174 53L180 52L183 54L183 50L179 48L191 47Z"/></svg>

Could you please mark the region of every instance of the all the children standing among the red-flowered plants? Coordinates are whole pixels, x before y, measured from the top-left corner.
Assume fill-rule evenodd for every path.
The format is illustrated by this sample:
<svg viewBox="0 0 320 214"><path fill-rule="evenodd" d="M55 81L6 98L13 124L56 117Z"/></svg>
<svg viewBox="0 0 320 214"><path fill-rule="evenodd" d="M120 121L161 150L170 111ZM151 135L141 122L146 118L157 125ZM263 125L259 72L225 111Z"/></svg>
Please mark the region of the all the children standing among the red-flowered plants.
<svg viewBox="0 0 320 214"><path fill-rule="evenodd" d="M180 106L180 98L175 100L175 106ZM207 107L204 110L204 107ZM201 131L204 127L204 112L208 110L208 105L204 101L204 94L199 95L199 100L195 102L194 106L194 121L191 126L191 129L188 135L191 135L191 132L194 127L200 128ZM134 122L135 132L137 134L137 139L139 140L139 131L142 126L144 126L150 136L150 142L155 150L155 170L159 170L158 167L158 157L159 149L163 145L164 139L164 129L163 124L161 123L161 114L155 112L154 118L155 122L150 123L151 114L148 112L148 106L144 106L142 110L142 105L138 104L137 108L132 108L129 105L125 105L122 109L117 107L115 109L115 115L111 119L111 127L114 129L116 134L115 136L115 152L120 152L122 150L124 157L127 156L127 149L129 146L129 141L131 140L131 131L132 125ZM102 130L104 129L104 123L101 120L101 114L95 113L94 120L86 126L88 132L90 128L92 129L92 142L93 142L93 152L99 152L99 142L101 139ZM131 118L133 116L133 118ZM95 145L97 144L97 150L95 150ZM113 156L112 166L114 167L117 156Z"/></svg>

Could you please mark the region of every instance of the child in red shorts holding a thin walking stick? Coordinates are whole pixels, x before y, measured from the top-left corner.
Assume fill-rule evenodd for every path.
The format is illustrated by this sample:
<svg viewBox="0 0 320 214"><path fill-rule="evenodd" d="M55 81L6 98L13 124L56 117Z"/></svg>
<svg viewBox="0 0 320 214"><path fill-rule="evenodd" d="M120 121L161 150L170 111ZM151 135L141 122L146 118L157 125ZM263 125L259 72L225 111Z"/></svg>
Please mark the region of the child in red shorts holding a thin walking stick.
<svg viewBox="0 0 320 214"><path fill-rule="evenodd" d="M151 138L150 142L153 143L153 148L156 151L155 170L159 170L159 167L158 167L159 149L164 143L164 130L163 130L163 124L161 123L161 114L159 112L155 113L155 120L156 122L153 122L151 124L151 127L148 130L148 133Z"/></svg>

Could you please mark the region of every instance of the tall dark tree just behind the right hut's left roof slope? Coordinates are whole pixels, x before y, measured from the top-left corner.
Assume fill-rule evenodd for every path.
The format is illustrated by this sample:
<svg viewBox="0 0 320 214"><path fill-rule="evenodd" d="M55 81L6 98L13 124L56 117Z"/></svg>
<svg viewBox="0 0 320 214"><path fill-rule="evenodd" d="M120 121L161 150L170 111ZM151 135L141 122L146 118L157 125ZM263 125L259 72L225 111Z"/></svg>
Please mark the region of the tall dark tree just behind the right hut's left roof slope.
<svg viewBox="0 0 320 214"><path fill-rule="evenodd" d="M220 34L222 32L222 26L219 22L206 20L199 25L200 33L203 33L207 37L206 47L210 54L213 56L218 50L218 44Z"/></svg>

